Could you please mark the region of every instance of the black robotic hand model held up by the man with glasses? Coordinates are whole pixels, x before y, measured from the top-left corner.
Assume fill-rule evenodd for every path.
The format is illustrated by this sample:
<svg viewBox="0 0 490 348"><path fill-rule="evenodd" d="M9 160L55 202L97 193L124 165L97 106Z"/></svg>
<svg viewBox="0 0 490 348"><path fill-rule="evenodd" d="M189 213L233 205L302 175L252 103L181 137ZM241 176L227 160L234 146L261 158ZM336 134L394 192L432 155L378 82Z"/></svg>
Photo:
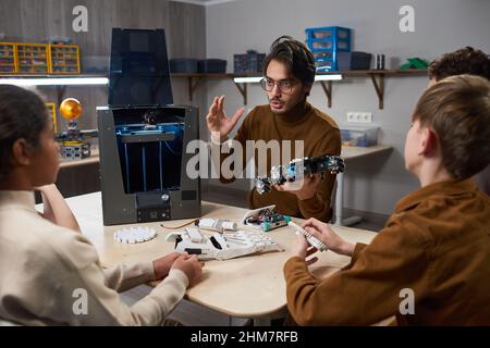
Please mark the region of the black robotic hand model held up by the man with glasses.
<svg viewBox="0 0 490 348"><path fill-rule="evenodd" d="M315 158L304 158L292 160L285 167L282 165L273 166L270 171L270 177L257 177L255 179L255 189L260 194L270 192L273 185L283 185L284 183L294 183L304 175L343 173L345 169L344 160L339 156L322 156Z"/></svg>

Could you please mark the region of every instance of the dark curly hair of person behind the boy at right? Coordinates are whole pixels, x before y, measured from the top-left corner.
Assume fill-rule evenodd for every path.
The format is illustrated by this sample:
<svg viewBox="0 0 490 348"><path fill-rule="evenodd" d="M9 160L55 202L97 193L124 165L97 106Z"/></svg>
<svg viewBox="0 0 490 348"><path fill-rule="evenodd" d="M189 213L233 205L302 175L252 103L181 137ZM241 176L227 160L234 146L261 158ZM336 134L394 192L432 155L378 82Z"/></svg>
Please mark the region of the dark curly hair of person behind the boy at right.
<svg viewBox="0 0 490 348"><path fill-rule="evenodd" d="M481 50L465 47L442 54L429 65L429 77L436 80L462 74L477 75L490 80L490 57Z"/></svg>

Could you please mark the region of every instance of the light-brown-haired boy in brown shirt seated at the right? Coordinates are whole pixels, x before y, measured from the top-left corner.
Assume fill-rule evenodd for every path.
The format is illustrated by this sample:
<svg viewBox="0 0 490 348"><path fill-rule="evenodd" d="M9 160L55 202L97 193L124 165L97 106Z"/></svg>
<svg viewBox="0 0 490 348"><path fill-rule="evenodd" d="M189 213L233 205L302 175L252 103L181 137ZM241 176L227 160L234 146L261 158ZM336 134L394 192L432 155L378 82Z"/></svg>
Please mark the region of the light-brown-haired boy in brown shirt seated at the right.
<svg viewBox="0 0 490 348"><path fill-rule="evenodd" d="M421 188L404 197L370 245L310 219L303 227L351 263L320 281L298 237L284 265L287 308L303 325L490 325L490 198L473 175L490 162L490 83L448 77L422 95L405 142Z"/></svg>

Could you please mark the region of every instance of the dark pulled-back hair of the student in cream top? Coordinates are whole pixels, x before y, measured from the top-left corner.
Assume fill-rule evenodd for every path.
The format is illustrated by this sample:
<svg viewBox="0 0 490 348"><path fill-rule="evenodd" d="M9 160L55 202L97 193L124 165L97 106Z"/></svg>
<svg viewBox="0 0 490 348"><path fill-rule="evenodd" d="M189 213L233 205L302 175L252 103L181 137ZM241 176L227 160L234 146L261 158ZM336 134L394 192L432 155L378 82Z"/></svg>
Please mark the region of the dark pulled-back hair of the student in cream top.
<svg viewBox="0 0 490 348"><path fill-rule="evenodd" d="M0 85L0 179L12 170L12 145L25 139L34 149L48 126L45 102L35 92L11 85Z"/></svg>

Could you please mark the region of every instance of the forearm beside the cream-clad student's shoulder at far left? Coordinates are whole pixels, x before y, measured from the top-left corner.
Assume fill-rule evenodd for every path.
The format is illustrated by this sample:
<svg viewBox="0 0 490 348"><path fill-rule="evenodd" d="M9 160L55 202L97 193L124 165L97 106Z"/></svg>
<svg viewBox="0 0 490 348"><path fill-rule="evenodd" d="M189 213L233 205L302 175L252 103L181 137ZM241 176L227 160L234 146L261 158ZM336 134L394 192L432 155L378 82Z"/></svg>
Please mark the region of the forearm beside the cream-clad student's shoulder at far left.
<svg viewBox="0 0 490 348"><path fill-rule="evenodd" d="M45 219L61 227L82 232L75 215L73 215L73 212L54 184L41 186L36 189L41 192L44 204L44 213L41 215Z"/></svg>

